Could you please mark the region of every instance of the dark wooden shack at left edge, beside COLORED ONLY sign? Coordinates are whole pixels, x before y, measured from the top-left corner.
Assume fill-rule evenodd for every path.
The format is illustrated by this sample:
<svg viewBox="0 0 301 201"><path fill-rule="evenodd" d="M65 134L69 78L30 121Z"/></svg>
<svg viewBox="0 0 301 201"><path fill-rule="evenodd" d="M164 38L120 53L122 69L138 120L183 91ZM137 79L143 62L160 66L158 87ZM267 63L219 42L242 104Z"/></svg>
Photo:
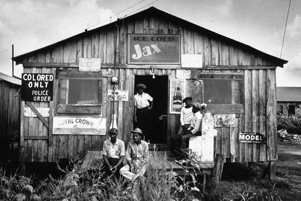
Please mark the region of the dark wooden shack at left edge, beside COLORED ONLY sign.
<svg viewBox="0 0 301 201"><path fill-rule="evenodd" d="M17 148L20 132L21 80L0 73L0 149Z"/></svg>

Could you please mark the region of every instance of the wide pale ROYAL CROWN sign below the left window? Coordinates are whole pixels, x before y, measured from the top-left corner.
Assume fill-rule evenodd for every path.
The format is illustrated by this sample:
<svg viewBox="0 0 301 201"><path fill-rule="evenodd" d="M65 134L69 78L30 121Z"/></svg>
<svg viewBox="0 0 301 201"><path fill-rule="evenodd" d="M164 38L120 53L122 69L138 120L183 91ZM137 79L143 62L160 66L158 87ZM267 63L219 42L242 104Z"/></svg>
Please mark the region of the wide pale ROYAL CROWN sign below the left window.
<svg viewBox="0 0 301 201"><path fill-rule="evenodd" d="M107 118L53 117L53 134L105 135Z"/></svg>

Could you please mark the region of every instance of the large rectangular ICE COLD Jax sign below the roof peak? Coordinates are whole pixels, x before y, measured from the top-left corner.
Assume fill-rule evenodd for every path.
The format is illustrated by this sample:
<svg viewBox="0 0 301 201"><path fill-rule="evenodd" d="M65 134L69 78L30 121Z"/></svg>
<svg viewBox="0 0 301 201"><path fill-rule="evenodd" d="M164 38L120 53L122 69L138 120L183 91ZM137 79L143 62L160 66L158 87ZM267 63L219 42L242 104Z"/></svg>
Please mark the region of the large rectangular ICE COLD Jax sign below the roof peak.
<svg viewBox="0 0 301 201"><path fill-rule="evenodd" d="M180 35L129 34L129 64L180 64Z"/></svg>

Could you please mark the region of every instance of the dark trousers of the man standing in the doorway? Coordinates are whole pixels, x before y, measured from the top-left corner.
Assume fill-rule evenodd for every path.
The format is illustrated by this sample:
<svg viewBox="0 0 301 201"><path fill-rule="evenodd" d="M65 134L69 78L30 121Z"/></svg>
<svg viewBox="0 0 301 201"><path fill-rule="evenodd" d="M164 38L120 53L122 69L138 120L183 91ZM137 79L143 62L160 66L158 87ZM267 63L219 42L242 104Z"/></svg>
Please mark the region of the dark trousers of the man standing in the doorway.
<svg viewBox="0 0 301 201"><path fill-rule="evenodd" d="M150 120L151 120L151 110L148 106L145 108L137 109L136 111L137 124L136 127L142 130L144 135L144 141L150 140Z"/></svg>

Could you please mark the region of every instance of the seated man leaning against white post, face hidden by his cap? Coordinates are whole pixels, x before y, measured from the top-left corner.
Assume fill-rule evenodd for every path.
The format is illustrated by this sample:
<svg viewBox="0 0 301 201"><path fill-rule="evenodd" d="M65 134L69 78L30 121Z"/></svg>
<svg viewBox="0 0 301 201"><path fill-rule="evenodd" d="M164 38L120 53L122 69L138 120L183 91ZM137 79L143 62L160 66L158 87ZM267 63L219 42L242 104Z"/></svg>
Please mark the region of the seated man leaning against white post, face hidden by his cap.
<svg viewBox="0 0 301 201"><path fill-rule="evenodd" d="M181 149L188 148L189 138L196 135L202 134L202 117L203 114L200 113L201 110L204 110L206 108L206 104L200 104L198 102L191 103L192 106L192 112L194 113L194 116L191 120L191 126L183 132L183 136L180 135L174 135L170 138L170 151L172 154L169 157L175 157L177 155L176 149L178 149L178 152L181 152Z"/></svg>

